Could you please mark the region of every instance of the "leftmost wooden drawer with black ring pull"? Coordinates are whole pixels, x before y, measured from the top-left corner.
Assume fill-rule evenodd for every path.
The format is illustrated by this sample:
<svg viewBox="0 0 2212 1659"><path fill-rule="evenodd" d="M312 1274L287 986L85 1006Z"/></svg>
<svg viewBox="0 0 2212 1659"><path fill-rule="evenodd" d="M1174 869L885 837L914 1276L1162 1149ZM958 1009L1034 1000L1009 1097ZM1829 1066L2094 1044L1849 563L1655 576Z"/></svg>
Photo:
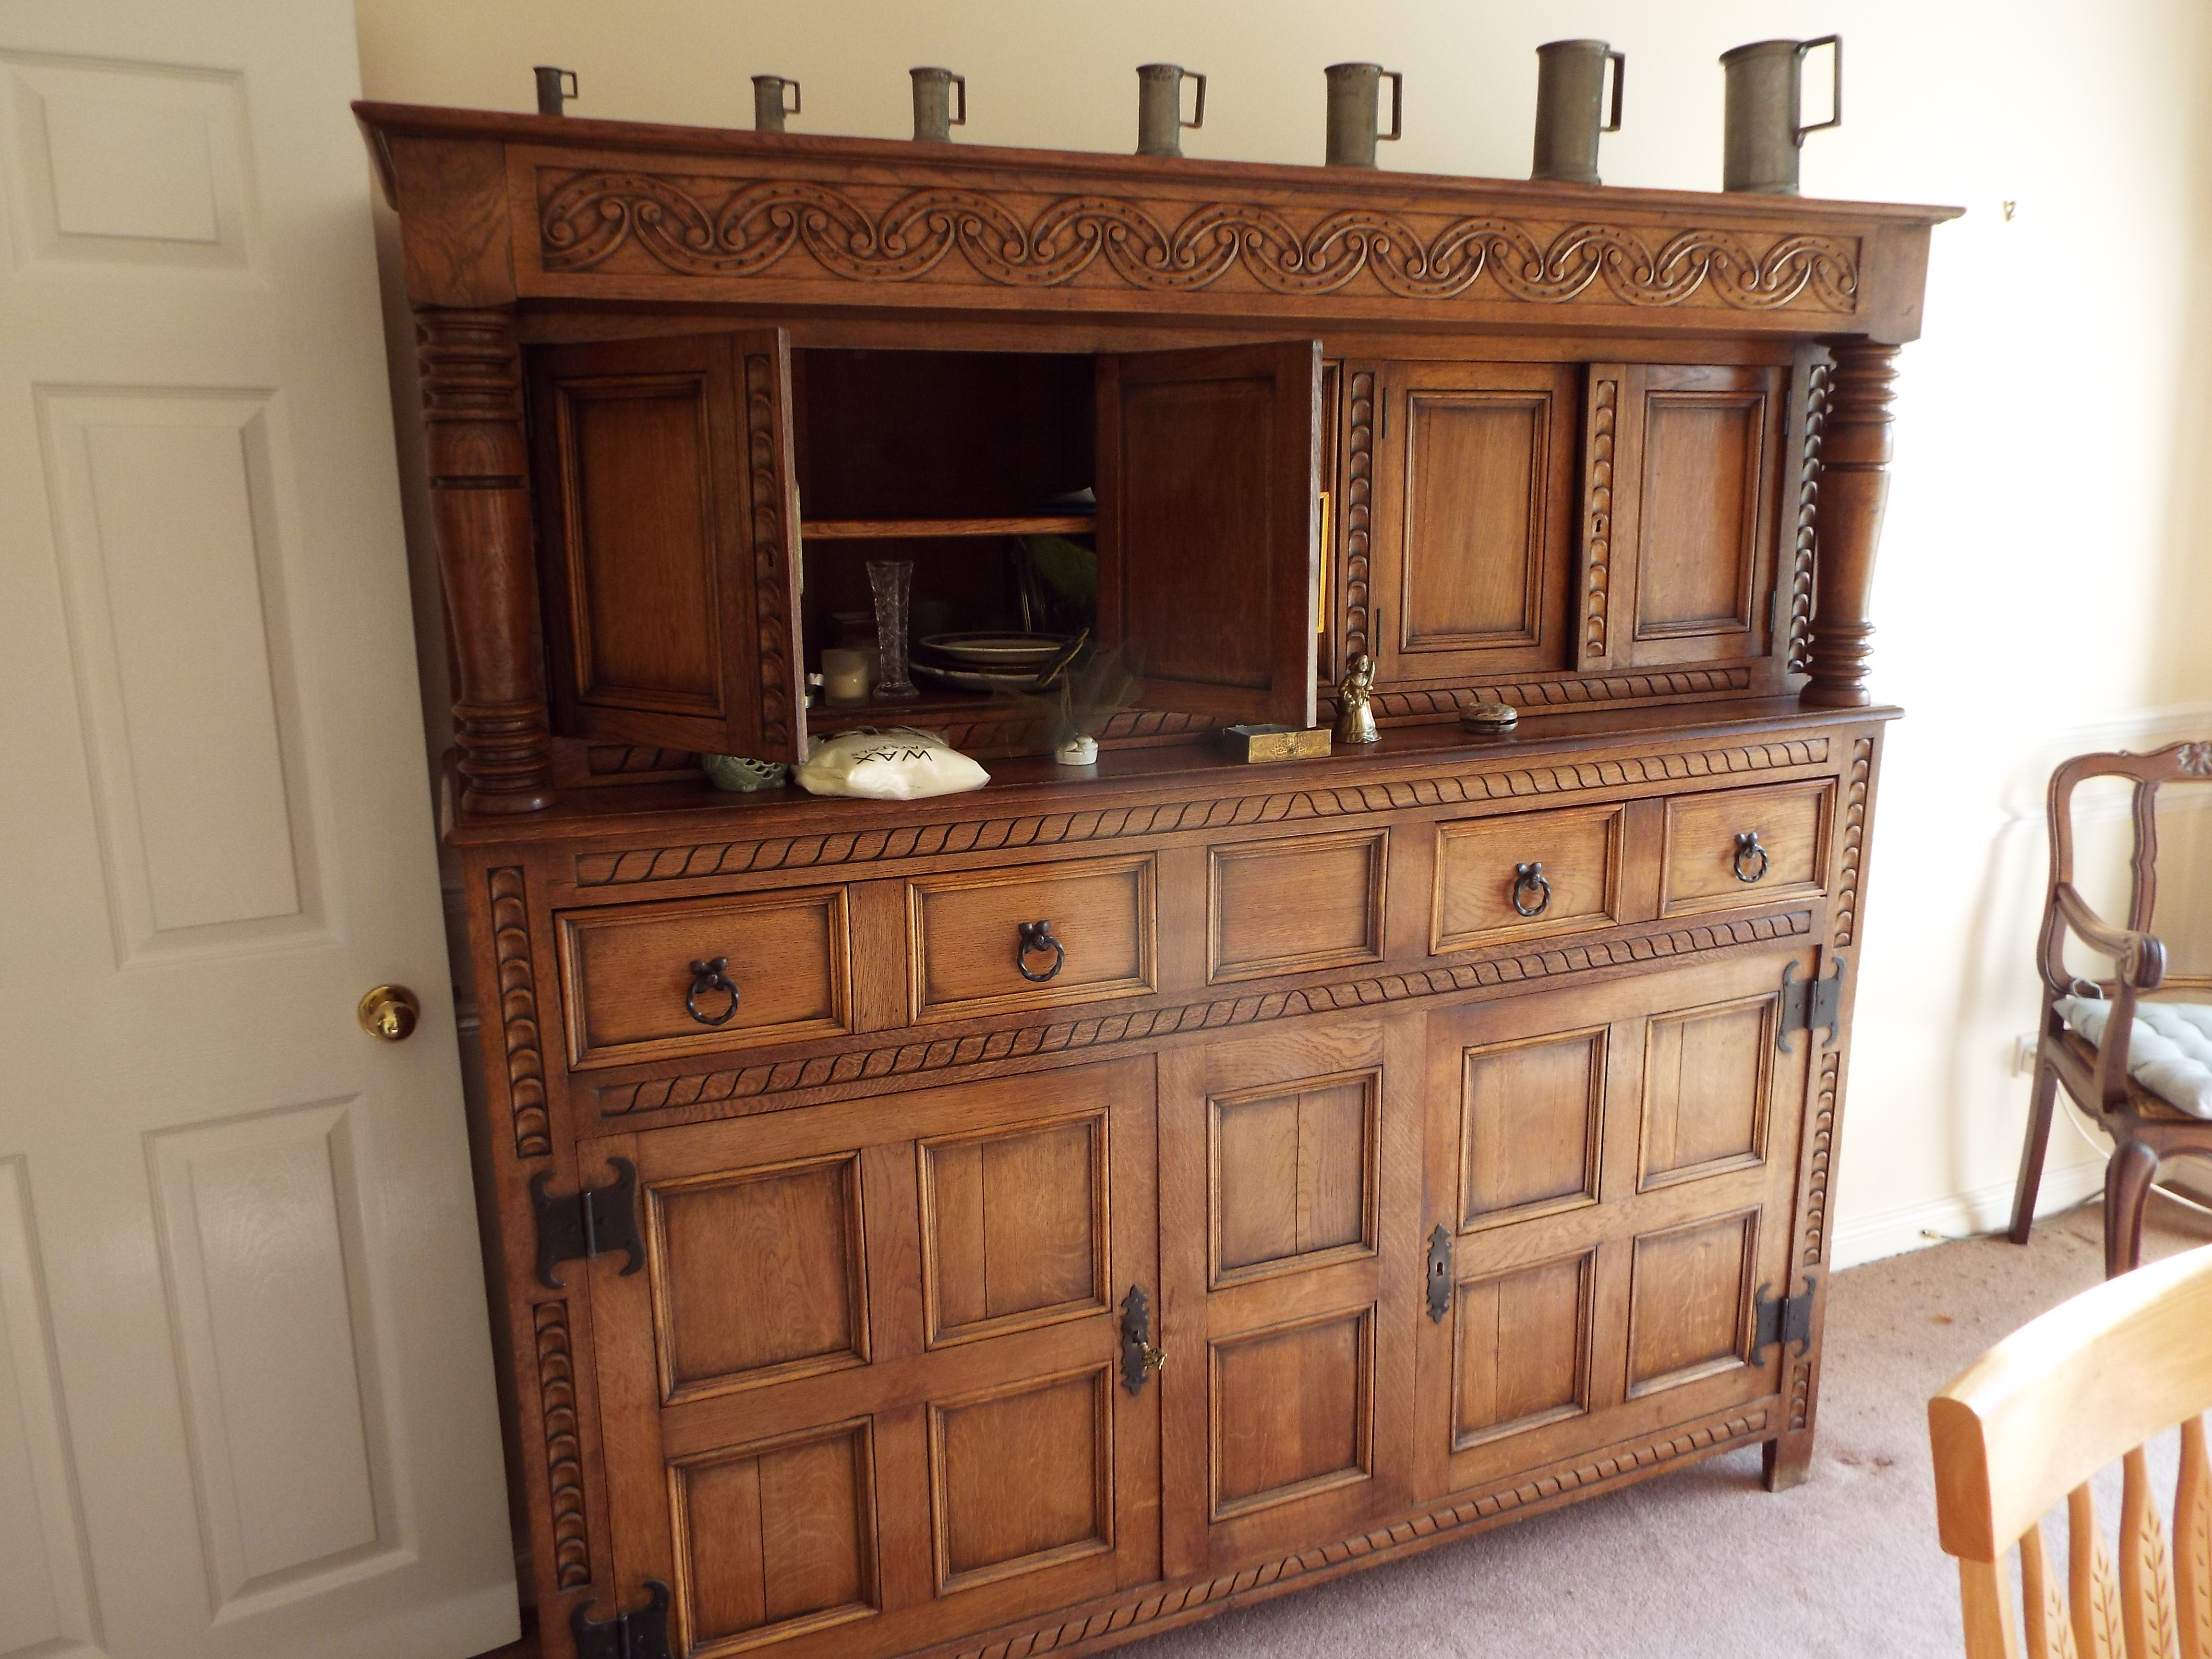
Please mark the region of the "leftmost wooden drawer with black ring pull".
<svg viewBox="0 0 2212 1659"><path fill-rule="evenodd" d="M571 909L557 922L568 1064L580 1071L852 1031L843 887ZM708 1024L730 998L701 991L699 1015L686 998L690 964L717 956L739 998Z"/></svg>

